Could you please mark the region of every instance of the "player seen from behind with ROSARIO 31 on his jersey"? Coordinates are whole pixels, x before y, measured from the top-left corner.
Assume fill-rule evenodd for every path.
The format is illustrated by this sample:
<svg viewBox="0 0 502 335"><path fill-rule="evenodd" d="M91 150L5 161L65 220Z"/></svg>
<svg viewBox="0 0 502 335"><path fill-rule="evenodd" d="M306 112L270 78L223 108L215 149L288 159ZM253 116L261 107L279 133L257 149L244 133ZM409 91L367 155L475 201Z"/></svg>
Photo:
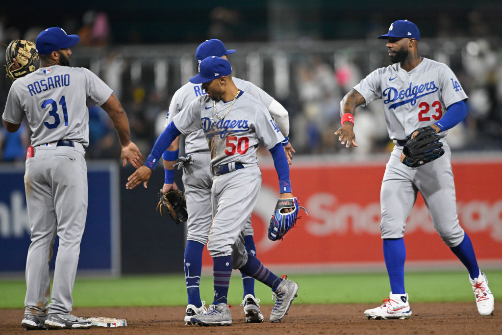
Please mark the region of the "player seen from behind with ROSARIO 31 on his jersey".
<svg viewBox="0 0 502 335"><path fill-rule="evenodd" d="M26 159L25 189L32 243L26 260L25 329L89 328L71 314L72 290L87 214L89 143L86 100L102 106L118 133L123 165L142 164L130 140L129 122L111 89L84 68L70 67L70 47L79 41L61 28L36 40L40 68L14 81L3 121L16 132L26 116L33 132ZM49 262L54 239L59 248L50 295ZM52 302L47 305L51 298Z"/></svg>

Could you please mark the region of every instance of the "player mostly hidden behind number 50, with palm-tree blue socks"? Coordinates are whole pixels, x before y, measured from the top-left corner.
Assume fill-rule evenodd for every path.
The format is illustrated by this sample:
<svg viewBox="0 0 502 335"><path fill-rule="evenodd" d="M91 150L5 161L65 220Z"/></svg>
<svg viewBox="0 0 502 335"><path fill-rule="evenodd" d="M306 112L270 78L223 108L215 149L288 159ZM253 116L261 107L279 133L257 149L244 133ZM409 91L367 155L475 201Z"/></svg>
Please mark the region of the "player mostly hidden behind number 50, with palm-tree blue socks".
<svg viewBox="0 0 502 335"><path fill-rule="evenodd" d="M220 40L211 39L201 43L197 47L195 58L200 63L209 56L218 56L224 59L226 55L234 53L235 50L227 50ZM282 131L286 140L283 142L284 150L288 160L292 159L294 149L288 143L289 121L288 111L272 96L267 94L256 85L232 77L233 82L243 91L253 95L262 101L269 110L270 115L275 120L278 128ZM167 127L173 118L192 100L205 95L200 84L186 83L178 89L171 100L169 111L164 127ZM165 167L165 184L162 188L164 193L171 189L178 189L174 183L174 164L178 159L179 138L177 138L168 150L163 154ZM185 324L191 324L190 318L196 314L204 312L205 306L201 301L199 292L199 282L202 269L202 250L207 242L209 229L211 227L211 186L212 174L209 170L211 155L202 130L188 134L185 140L185 153L190 161L183 166L183 185L185 186L185 197L187 210L189 213L187 222L187 244L183 267L185 270L185 281L188 295L188 305L185 313ZM253 240L253 228L250 216L247 219L244 230L244 246L246 250L256 256L256 247ZM243 300L242 306L246 315L246 322L262 322L263 314L260 311L255 297L255 280L242 273Z"/></svg>

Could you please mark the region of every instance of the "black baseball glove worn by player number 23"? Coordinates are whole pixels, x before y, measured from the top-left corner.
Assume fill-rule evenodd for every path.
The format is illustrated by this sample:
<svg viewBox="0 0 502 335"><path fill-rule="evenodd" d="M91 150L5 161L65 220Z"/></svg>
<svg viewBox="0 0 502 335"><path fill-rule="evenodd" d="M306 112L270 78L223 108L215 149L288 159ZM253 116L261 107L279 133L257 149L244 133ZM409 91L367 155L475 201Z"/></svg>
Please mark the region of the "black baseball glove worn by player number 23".
<svg viewBox="0 0 502 335"><path fill-rule="evenodd" d="M418 135L411 139L411 135ZM443 143L431 126L414 130L406 137L406 144L401 151L401 162L408 167L419 167L429 163L444 154Z"/></svg>

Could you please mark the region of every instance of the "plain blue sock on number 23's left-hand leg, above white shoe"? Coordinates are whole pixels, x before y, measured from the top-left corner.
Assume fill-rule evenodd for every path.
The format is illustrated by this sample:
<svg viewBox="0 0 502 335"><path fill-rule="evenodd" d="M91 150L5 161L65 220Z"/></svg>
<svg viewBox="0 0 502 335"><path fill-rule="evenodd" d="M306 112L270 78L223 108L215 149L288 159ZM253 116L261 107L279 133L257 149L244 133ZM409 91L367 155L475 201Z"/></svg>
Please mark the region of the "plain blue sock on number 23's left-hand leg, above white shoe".
<svg viewBox="0 0 502 335"><path fill-rule="evenodd" d="M401 239L384 239L384 259L391 291L393 294L405 294L405 241Z"/></svg>

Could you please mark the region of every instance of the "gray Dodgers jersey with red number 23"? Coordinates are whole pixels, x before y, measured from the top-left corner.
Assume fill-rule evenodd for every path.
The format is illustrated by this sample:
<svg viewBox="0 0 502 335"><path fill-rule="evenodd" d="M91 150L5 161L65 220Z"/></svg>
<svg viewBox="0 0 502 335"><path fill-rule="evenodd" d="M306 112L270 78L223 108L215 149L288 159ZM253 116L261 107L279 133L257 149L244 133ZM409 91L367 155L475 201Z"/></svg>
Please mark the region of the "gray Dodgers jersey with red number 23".
<svg viewBox="0 0 502 335"><path fill-rule="evenodd" d="M467 98L453 71L427 58L410 72L399 63L376 69L354 89L364 97L363 106L383 99L391 140L404 140L415 129L434 124L446 107Z"/></svg>

